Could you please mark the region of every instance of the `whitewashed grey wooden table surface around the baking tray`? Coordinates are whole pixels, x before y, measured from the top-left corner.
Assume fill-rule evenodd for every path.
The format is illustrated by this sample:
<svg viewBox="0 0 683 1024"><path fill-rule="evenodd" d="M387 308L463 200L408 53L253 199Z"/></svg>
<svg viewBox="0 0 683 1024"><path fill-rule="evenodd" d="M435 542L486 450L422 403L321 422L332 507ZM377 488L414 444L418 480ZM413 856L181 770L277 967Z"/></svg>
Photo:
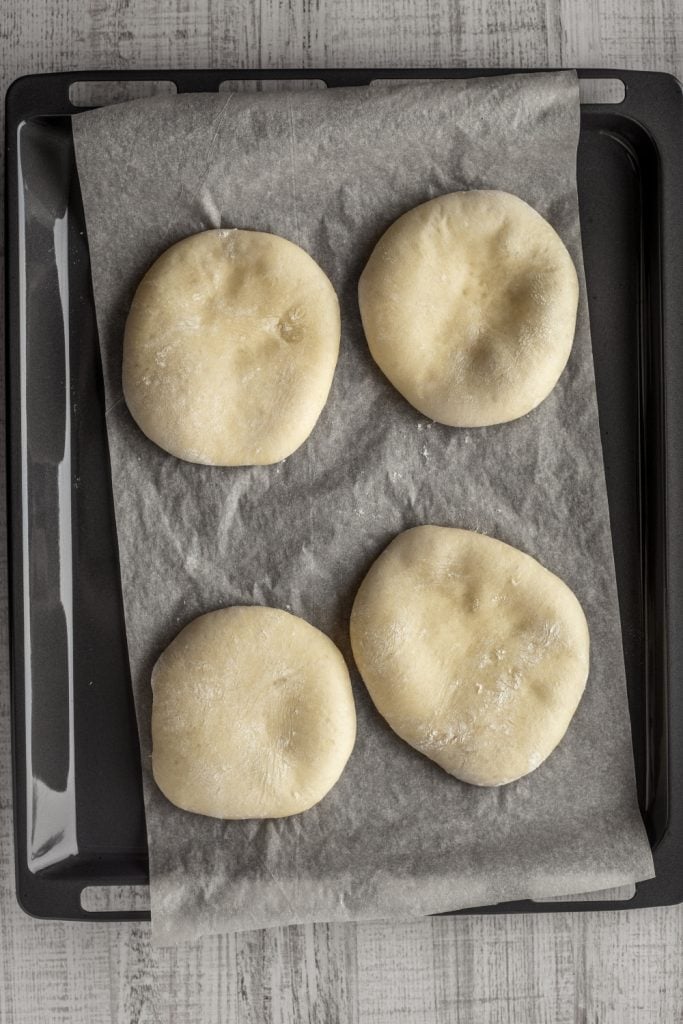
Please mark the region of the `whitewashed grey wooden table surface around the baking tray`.
<svg viewBox="0 0 683 1024"><path fill-rule="evenodd" d="M683 0L0 6L3 93L19 75L68 69L430 65L636 68L683 79ZM146 924L29 919L13 891L4 585L0 594L2 1024L683 1021L681 907L293 927L176 951L152 949Z"/></svg>

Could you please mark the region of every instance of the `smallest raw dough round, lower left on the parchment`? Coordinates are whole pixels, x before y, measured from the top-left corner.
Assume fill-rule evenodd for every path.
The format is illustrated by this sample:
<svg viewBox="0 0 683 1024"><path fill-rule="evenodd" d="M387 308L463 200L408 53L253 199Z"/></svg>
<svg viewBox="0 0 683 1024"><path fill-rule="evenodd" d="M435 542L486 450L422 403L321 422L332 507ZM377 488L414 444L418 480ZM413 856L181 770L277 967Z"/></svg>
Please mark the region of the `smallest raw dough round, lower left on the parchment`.
<svg viewBox="0 0 683 1024"><path fill-rule="evenodd" d="M153 772L216 818L282 818L329 793L355 741L348 669L332 640L276 608L186 626L152 674Z"/></svg>

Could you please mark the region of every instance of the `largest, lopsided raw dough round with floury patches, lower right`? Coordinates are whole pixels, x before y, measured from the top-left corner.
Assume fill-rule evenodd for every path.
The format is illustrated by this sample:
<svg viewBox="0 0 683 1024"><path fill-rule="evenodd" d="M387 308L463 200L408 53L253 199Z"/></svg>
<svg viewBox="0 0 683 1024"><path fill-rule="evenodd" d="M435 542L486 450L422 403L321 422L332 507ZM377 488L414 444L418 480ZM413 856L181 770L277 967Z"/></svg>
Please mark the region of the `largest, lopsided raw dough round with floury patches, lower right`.
<svg viewBox="0 0 683 1024"><path fill-rule="evenodd" d="M394 732L475 785L533 771L589 668L586 616L536 559L467 529L400 534L360 585L351 644Z"/></svg>

